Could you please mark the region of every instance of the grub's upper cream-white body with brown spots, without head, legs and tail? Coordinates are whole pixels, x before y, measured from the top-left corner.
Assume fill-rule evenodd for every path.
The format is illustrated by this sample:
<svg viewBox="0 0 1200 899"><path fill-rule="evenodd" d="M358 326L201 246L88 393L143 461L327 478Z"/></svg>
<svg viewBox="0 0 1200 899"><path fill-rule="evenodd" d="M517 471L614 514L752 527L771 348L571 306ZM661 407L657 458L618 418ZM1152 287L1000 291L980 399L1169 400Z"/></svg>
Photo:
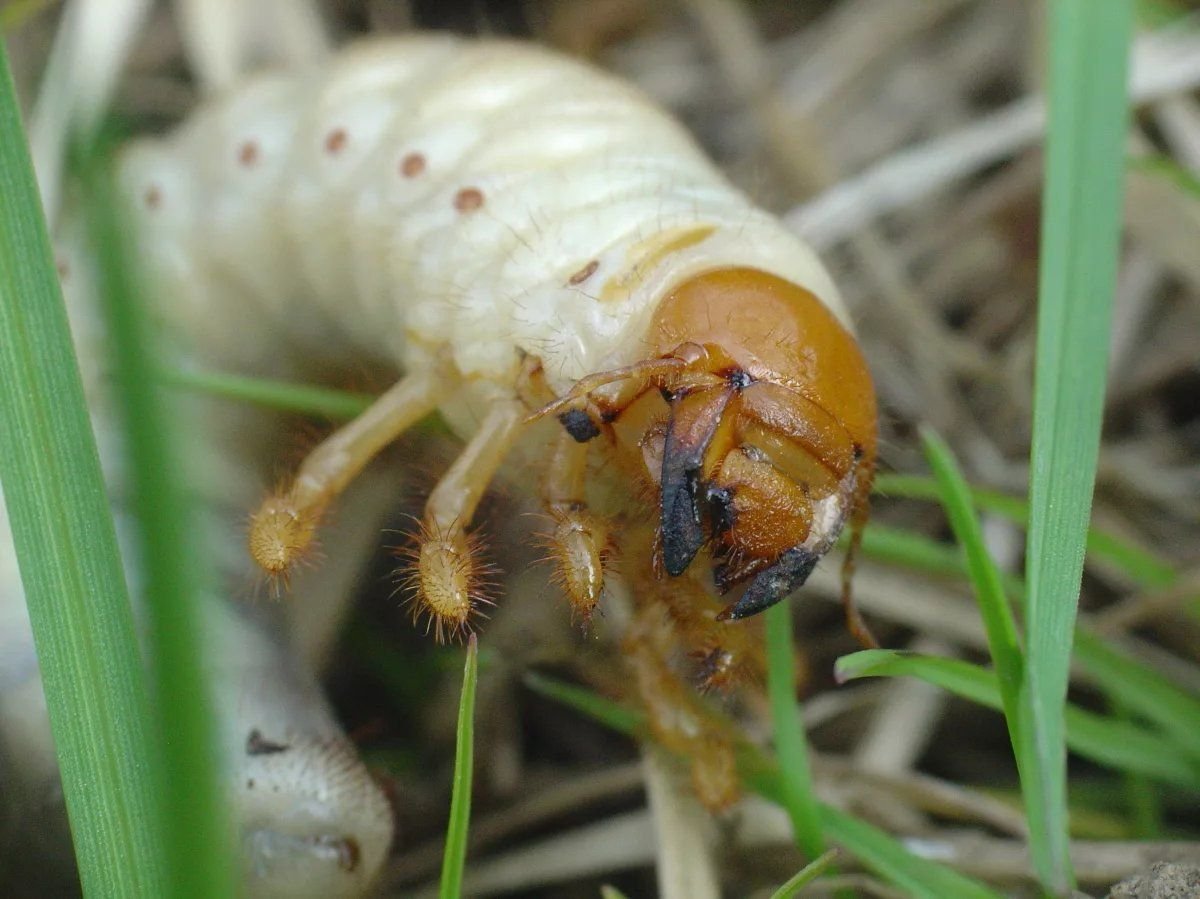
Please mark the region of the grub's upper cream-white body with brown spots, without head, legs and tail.
<svg viewBox="0 0 1200 899"><path fill-rule="evenodd" d="M845 318L812 252L676 121L529 44L408 36L263 76L128 148L121 178L193 352L444 358L463 434L522 354L558 392L642 358L656 301L703 270L763 269Z"/></svg>

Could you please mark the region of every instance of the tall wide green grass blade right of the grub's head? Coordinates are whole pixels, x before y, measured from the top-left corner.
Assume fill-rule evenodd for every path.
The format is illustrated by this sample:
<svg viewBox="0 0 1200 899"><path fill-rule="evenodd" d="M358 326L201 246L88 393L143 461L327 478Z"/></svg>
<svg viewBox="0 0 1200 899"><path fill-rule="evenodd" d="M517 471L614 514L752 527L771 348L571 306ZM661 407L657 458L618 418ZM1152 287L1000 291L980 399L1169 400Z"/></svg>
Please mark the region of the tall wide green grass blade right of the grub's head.
<svg viewBox="0 0 1200 899"><path fill-rule="evenodd" d="M1026 540L1021 751L1042 885L1074 886L1063 705L1099 453L1116 287L1132 0L1051 0L1046 174Z"/></svg>

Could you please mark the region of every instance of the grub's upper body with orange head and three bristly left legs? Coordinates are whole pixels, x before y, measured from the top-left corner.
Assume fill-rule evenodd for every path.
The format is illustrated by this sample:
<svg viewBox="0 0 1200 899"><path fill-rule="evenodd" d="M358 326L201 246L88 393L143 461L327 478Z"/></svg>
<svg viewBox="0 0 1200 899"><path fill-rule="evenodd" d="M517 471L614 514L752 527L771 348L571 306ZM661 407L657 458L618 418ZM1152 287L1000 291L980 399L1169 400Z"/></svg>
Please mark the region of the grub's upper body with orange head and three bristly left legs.
<svg viewBox="0 0 1200 899"><path fill-rule="evenodd" d="M433 409L467 439L414 552L439 631L479 600L467 527L539 407L564 425L540 493L584 616L606 546L588 453L656 485L660 574L707 545L719 588L749 585L725 618L782 599L865 515L874 392L828 275L610 76L516 43L362 44L131 146L121 176L181 343L254 373L404 372L254 516L270 571Z"/></svg>

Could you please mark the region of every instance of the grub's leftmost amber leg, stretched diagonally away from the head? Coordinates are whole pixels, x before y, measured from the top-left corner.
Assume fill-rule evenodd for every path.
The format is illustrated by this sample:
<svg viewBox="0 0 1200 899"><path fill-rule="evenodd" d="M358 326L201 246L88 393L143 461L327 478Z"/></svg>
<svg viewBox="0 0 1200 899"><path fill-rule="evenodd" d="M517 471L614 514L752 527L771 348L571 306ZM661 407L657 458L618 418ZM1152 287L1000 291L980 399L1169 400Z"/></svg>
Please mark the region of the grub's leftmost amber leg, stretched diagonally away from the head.
<svg viewBox="0 0 1200 899"><path fill-rule="evenodd" d="M292 486L269 497L250 523L250 553L272 576L287 577L317 535L329 503L401 433L433 412L451 386L439 368L404 376L350 424L325 438Z"/></svg>

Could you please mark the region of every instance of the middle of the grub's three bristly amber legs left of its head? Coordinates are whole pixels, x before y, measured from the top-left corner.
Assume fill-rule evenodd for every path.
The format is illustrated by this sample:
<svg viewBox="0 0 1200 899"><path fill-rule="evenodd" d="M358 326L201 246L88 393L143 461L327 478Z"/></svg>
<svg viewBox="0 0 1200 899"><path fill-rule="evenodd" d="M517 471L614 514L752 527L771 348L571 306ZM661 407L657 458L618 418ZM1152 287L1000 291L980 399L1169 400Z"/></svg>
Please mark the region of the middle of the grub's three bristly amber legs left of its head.
<svg viewBox="0 0 1200 899"><path fill-rule="evenodd" d="M522 430L524 407L497 402L467 448L430 495L415 551L414 617L428 615L440 641L467 630L482 595L487 570L467 535L484 491Z"/></svg>

